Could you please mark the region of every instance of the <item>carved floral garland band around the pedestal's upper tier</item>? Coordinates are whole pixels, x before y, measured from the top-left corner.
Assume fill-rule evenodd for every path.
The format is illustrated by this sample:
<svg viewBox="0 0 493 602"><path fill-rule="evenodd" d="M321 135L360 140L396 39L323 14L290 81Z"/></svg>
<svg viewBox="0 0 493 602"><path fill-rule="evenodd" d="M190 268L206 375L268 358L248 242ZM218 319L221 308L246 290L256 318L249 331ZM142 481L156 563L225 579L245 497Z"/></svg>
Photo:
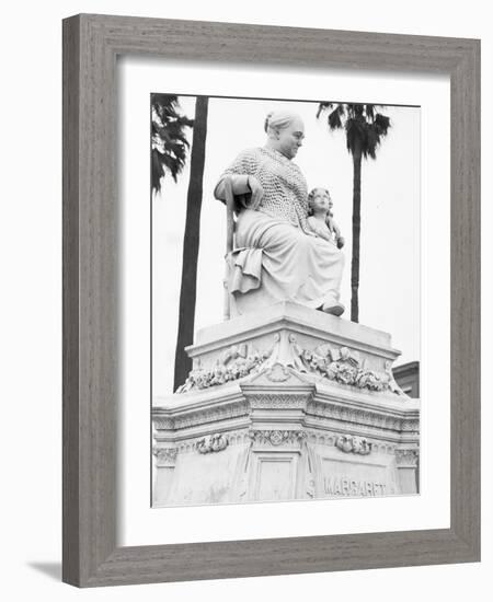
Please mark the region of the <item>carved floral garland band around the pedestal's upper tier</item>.
<svg viewBox="0 0 493 602"><path fill-rule="evenodd" d="M289 379L287 368L294 368L298 372L316 374L342 385L374 392L389 391L405 396L393 379L391 366L387 361L382 372L367 370L355 349L336 348L329 344L305 349L298 345L293 333L287 339L276 333L274 345L263 354L246 344L226 349L216 366L192 370L176 393L225 384L262 370L266 370L266 378L272 382L284 382Z"/></svg>

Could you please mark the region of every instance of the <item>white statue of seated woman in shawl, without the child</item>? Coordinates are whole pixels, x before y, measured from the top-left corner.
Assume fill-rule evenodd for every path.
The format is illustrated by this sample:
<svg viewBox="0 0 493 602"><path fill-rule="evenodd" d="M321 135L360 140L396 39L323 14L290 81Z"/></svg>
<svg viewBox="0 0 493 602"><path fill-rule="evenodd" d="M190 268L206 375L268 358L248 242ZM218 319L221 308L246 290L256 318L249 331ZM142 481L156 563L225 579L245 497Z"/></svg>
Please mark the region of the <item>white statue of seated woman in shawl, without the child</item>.
<svg viewBox="0 0 493 602"><path fill-rule="evenodd" d="M309 227L307 182L293 162L303 123L279 111L267 115L264 129L265 146L242 151L214 192L225 201L230 177L238 215L229 257L231 315L293 301L339 316L344 255Z"/></svg>

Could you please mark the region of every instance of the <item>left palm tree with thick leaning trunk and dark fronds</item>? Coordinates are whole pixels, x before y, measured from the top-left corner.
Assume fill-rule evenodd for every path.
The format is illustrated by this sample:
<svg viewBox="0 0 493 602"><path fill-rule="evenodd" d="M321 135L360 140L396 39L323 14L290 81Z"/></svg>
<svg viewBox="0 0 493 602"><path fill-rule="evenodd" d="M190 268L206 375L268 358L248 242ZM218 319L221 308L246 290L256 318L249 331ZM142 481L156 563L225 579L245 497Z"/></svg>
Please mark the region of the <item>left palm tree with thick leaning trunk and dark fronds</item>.
<svg viewBox="0 0 493 602"><path fill-rule="evenodd" d="M192 369L192 360L185 354L185 347L191 345L194 338L208 97L196 97L194 119L181 115L179 108L177 96L170 94L152 94L151 96L151 186L153 192L161 190L162 178L167 173L170 173L176 182L177 175L185 166L186 152L190 148L185 127L193 128L174 362L174 390L185 382Z"/></svg>

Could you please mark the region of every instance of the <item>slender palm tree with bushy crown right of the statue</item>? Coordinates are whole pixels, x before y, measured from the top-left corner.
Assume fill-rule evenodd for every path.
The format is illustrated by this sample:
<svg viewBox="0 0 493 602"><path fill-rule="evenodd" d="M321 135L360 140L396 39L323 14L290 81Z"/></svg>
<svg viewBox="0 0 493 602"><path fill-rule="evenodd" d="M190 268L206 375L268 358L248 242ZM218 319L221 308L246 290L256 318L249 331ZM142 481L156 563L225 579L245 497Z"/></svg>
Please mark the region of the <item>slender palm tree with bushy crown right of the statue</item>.
<svg viewBox="0 0 493 602"><path fill-rule="evenodd" d="M347 151L353 157L353 257L351 262L351 320L358 322L359 234L362 229L362 159L376 159L377 148L387 136L390 119L377 113L379 105L329 103L319 104L317 118L329 112L331 130L345 129Z"/></svg>

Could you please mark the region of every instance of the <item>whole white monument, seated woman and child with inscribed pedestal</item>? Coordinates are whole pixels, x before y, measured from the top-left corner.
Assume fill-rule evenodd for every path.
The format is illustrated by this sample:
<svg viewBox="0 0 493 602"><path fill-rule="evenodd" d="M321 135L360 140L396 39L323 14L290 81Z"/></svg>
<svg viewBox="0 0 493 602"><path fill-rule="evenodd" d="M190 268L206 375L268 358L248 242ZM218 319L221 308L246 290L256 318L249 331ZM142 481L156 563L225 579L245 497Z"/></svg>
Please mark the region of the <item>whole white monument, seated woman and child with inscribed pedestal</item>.
<svg viewBox="0 0 493 602"><path fill-rule="evenodd" d="M344 240L329 192L308 194L293 162L301 119L273 113L265 131L215 189L227 320L196 331L185 382L153 397L152 506L416 494L420 402L394 381L400 351L339 317Z"/></svg>

